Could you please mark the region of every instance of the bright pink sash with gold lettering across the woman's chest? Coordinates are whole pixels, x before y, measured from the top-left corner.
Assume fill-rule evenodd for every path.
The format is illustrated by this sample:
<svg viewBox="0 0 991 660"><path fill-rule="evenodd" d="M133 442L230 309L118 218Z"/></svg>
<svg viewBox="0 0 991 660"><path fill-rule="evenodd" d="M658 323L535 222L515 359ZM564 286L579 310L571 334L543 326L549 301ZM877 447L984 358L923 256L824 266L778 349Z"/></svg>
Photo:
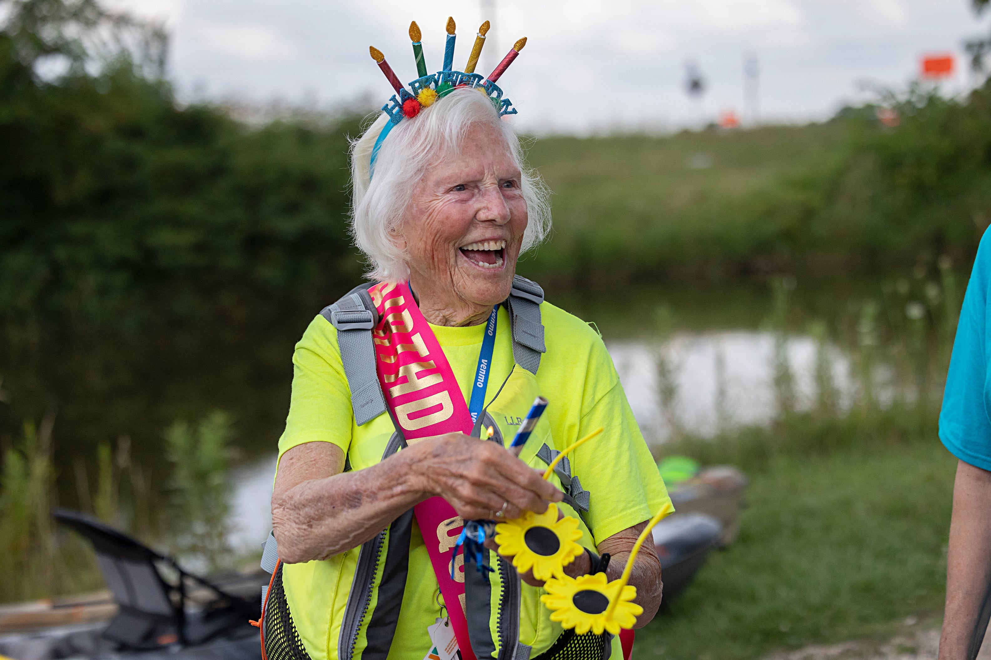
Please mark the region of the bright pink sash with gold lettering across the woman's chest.
<svg viewBox="0 0 991 660"><path fill-rule="evenodd" d="M382 282L369 289L379 324L372 331L376 371L385 403L409 444L443 433L472 432L472 418L454 371L433 330L405 283ZM413 508L430 563L463 660L476 660L465 615L464 567L451 579L455 541L464 520L443 498L432 497ZM459 555L459 559L461 555ZM458 567L456 567L457 569ZM460 607L453 607L459 603Z"/></svg>

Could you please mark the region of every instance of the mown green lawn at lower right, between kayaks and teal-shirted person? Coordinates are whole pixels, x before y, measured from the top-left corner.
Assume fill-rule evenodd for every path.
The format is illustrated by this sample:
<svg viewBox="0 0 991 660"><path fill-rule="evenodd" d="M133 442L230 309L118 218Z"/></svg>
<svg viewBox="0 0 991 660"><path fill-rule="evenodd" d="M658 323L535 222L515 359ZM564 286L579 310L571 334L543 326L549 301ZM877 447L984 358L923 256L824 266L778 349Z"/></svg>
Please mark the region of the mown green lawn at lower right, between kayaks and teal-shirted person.
<svg viewBox="0 0 991 660"><path fill-rule="evenodd" d="M754 457L740 536L637 633L635 657L746 660L937 618L956 459L935 428L902 430L875 427L816 451L787 448L801 446L776 437L787 429L751 429L744 446L763 433L786 449L736 445L733 456Z"/></svg>

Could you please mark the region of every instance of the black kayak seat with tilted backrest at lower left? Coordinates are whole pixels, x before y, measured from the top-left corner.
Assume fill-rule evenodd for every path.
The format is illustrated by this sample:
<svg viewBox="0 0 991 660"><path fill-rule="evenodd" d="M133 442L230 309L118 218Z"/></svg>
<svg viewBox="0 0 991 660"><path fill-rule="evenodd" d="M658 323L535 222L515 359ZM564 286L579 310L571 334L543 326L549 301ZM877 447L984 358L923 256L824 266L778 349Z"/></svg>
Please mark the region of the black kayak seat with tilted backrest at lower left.
<svg viewBox="0 0 991 660"><path fill-rule="evenodd" d="M136 649L174 642L198 644L244 626L255 614L246 600L182 570L171 557L97 519L64 509L54 509L52 516L85 536L96 550L103 580L120 607L103 631L112 641ZM177 575L171 582L163 575L165 566ZM214 596L194 613L187 612L187 582L206 588Z"/></svg>

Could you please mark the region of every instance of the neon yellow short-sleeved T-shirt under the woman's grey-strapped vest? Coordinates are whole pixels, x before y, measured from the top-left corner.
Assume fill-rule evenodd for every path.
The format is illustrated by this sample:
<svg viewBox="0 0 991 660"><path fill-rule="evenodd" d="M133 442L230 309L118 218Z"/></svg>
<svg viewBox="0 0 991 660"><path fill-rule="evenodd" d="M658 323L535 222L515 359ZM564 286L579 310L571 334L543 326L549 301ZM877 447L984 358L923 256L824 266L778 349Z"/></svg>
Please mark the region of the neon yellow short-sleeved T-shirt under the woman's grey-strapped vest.
<svg viewBox="0 0 991 660"><path fill-rule="evenodd" d="M598 544L618 531L650 519L669 505L670 500L602 338L588 324L550 303L543 303L540 312L547 352L540 360L536 380L541 394L550 402L544 419L551 424L555 443L559 447L567 446L599 426L606 429L571 459L572 474L580 477L583 488L592 495L591 510L584 518ZM430 328L444 349L467 401L485 324L470 328L431 325ZM296 445L313 441L333 442L347 453L354 415L337 330L317 316L296 344L292 362L292 396L285 430L278 440L279 457ZM495 397L512 366L509 320L505 309L500 307L487 403ZM429 643L426 626L434 622L436 615L432 602L436 590L433 569L418 530L414 530L412 539L407 586L388 654L390 660L421 660L429 650L425 648ZM410 584L413 582L424 584ZM313 593L320 591L317 585L312 587ZM297 627L308 625L310 616L297 613L298 601L293 601ZM313 634L302 629L299 632L304 640L320 636L316 630ZM328 642L329 653L308 648L314 660L333 655L336 641Z"/></svg>

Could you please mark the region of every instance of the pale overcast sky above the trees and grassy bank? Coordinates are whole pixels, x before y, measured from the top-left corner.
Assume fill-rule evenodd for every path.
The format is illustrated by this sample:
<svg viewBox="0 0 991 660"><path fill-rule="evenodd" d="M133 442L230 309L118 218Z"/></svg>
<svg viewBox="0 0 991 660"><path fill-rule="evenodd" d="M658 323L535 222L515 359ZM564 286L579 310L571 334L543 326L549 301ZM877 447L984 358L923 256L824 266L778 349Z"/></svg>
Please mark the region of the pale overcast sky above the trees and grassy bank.
<svg viewBox="0 0 991 660"><path fill-rule="evenodd" d="M756 55L763 121L823 119L863 100L863 81L904 87L930 52L987 33L969 0L116 0L165 22L169 75L184 98L385 103L392 91L368 54L379 47L401 80L416 77L407 29L423 31L440 68L444 24L458 24L455 68L484 19L493 32L479 72L519 37L526 48L499 85L525 131L671 129L726 110L744 117L744 55ZM495 9L492 9L495 6ZM487 59L488 57L488 59ZM685 65L708 89L685 93Z"/></svg>

